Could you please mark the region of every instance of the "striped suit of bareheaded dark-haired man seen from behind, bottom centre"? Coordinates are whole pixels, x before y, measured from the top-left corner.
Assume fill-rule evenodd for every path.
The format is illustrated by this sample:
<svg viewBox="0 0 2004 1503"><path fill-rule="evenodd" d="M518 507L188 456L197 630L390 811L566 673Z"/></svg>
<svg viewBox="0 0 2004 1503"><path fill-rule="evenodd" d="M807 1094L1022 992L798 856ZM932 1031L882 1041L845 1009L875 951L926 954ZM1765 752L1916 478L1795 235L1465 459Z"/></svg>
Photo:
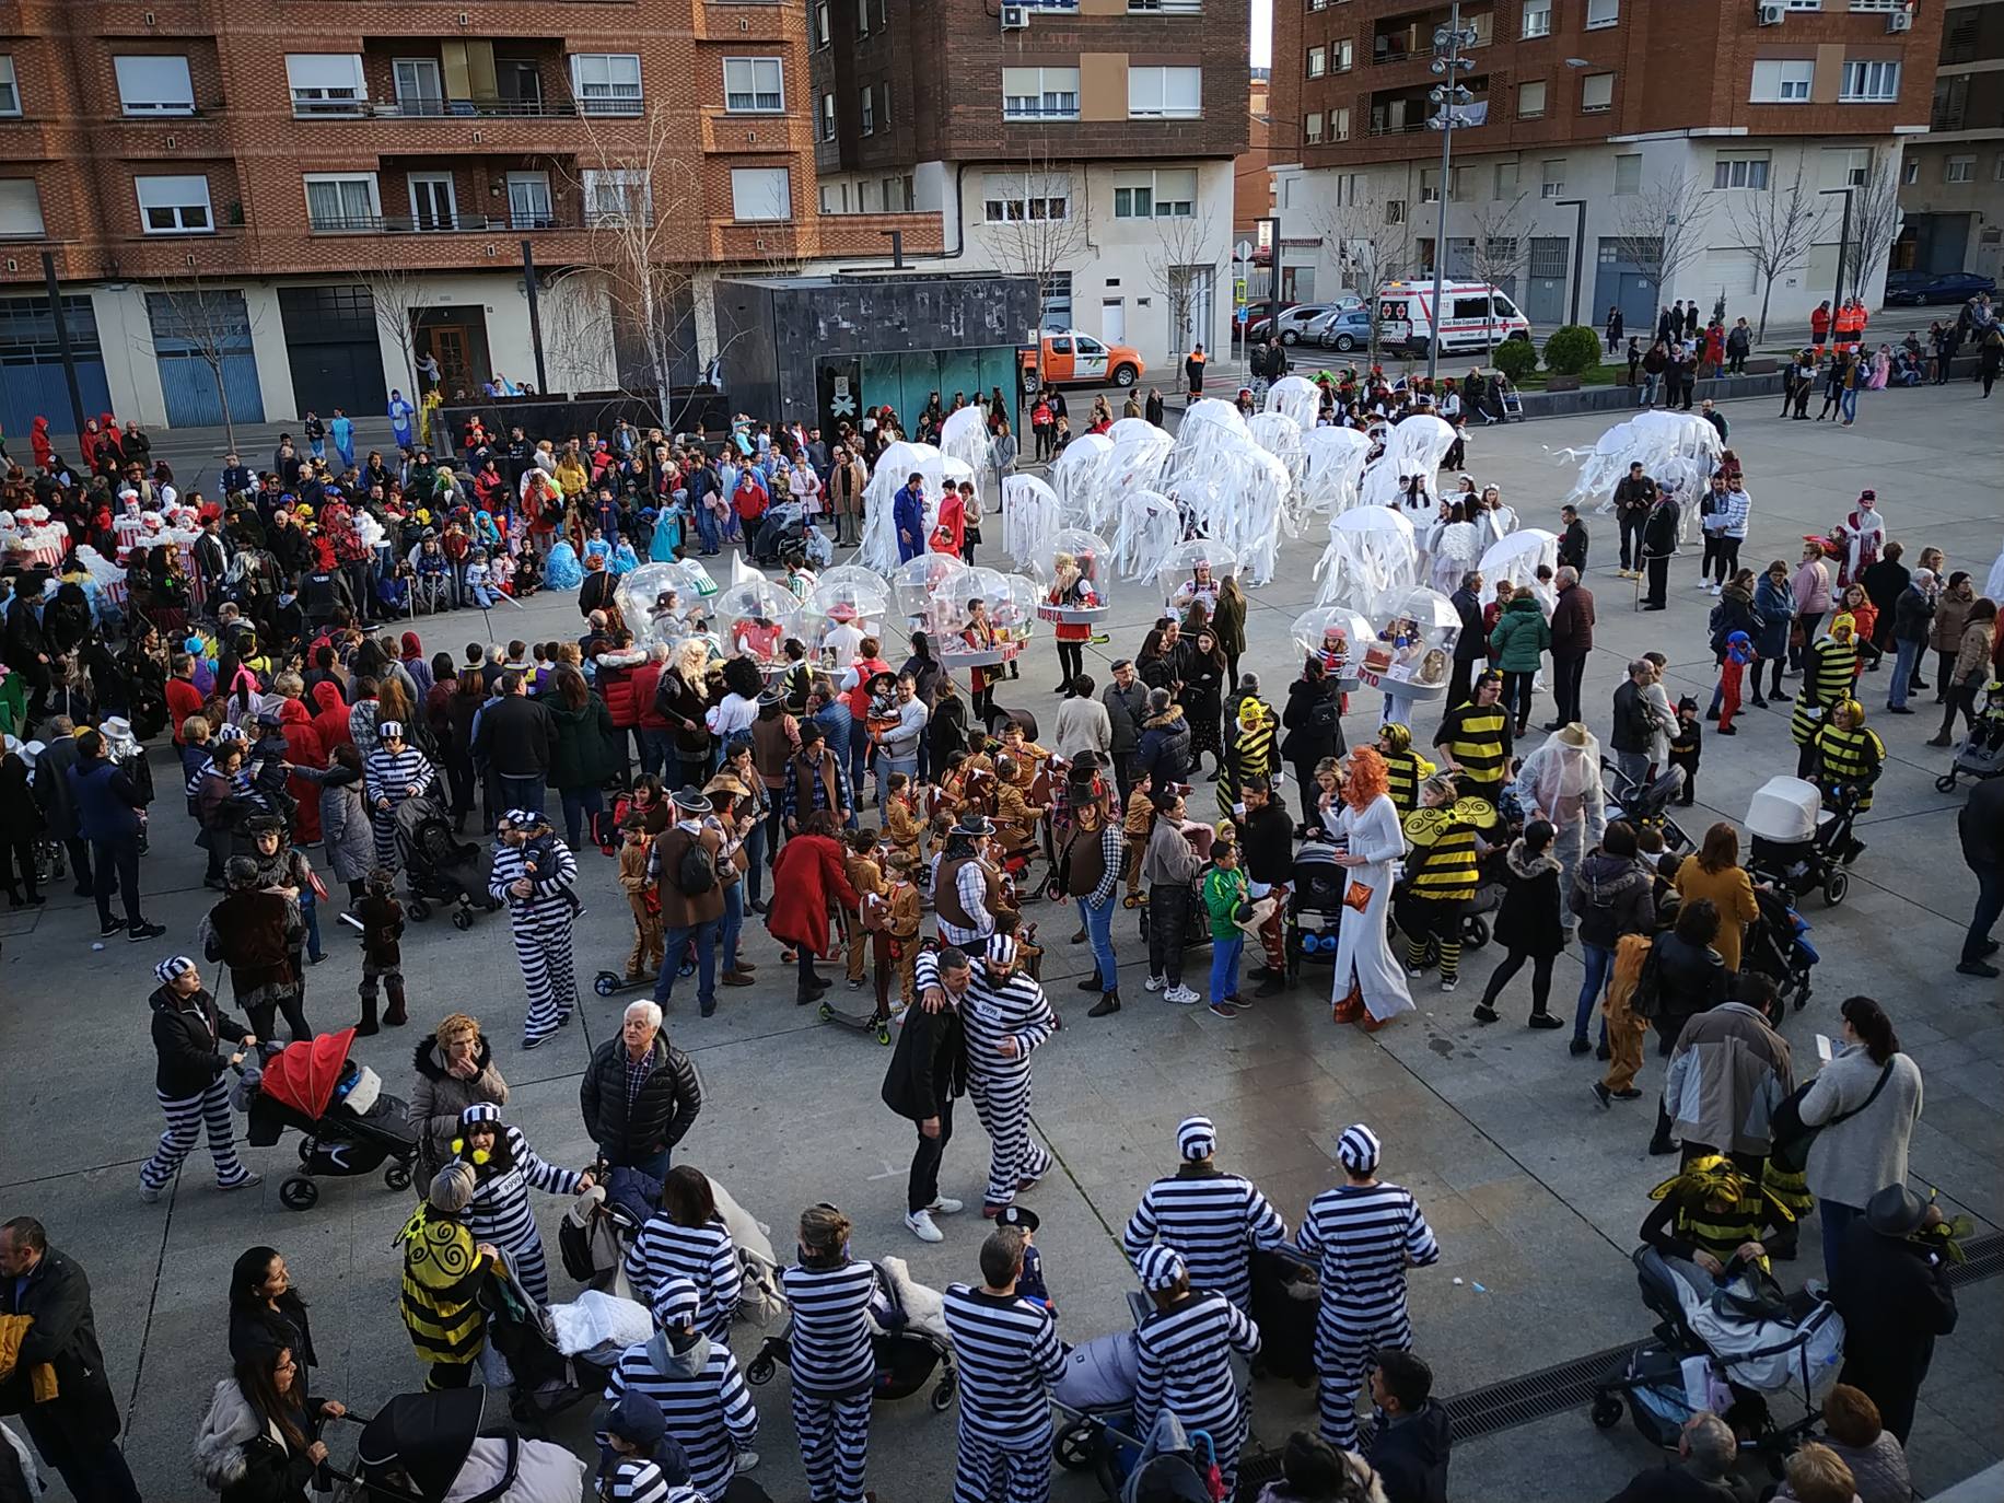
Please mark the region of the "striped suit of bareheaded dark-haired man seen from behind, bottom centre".
<svg viewBox="0 0 2004 1503"><path fill-rule="evenodd" d="M946 1333L960 1363L954 1503L1044 1503L1050 1385L1064 1371L1050 1311L1016 1295L950 1285Z"/></svg>

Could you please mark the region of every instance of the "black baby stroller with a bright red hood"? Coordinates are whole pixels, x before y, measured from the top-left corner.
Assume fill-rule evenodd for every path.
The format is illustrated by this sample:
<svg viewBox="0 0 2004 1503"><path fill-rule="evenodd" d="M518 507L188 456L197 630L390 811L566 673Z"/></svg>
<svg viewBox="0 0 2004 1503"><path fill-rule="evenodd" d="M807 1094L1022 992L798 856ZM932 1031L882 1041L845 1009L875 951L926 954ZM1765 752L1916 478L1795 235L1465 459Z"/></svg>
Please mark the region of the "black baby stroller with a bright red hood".
<svg viewBox="0 0 2004 1503"><path fill-rule="evenodd" d="M250 1146L273 1146L289 1126L303 1134L299 1172L279 1186L279 1204L287 1210L305 1210L321 1198L317 1174L373 1174L385 1158L391 1166L383 1182L393 1190L411 1188L417 1134L405 1122L405 1104L383 1090L375 1070L349 1058L353 1044L355 1030L343 1028L287 1044L267 1054L261 1068L244 1070Z"/></svg>

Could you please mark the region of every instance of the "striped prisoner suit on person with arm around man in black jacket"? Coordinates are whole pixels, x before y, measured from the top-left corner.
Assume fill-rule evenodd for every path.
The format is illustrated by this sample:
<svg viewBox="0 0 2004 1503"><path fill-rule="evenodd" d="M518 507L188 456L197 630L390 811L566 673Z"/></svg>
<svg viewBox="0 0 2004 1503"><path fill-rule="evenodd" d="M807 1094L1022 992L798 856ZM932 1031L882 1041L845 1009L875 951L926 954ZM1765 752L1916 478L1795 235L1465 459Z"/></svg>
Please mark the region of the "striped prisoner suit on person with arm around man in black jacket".
<svg viewBox="0 0 2004 1503"><path fill-rule="evenodd" d="M920 956L920 990L936 978L932 956ZM960 1020L968 1032L968 1096L990 1144L982 1202L1006 1206L1016 1190L1050 1170L1050 1152L1030 1136L1030 1054L1056 1032L1056 1018L1044 988L1026 970L998 980L984 960L976 960ZM1002 1052L1004 1038L1016 1042L1014 1054Z"/></svg>

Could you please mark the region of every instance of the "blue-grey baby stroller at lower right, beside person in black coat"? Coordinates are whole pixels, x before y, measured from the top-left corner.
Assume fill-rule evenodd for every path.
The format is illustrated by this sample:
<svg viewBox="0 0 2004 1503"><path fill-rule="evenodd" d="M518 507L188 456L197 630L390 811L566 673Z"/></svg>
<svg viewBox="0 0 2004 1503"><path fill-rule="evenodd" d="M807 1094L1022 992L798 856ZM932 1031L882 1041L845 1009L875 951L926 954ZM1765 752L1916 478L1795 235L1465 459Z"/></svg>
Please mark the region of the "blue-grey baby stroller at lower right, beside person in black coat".
<svg viewBox="0 0 2004 1503"><path fill-rule="evenodd" d="M1643 1305L1659 1317L1655 1339L1629 1353L1593 1391L1593 1423L1613 1429L1623 1401L1651 1445L1677 1449L1683 1421L1711 1409L1760 1451L1780 1477L1782 1457L1822 1421L1818 1395L1844 1361L1844 1317L1818 1293L1784 1295L1737 1259L1713 1283L1695 1263L1635 1248ZM1802 1419L1778 1425L1766 1395L1788 1395Z"/></svg>

